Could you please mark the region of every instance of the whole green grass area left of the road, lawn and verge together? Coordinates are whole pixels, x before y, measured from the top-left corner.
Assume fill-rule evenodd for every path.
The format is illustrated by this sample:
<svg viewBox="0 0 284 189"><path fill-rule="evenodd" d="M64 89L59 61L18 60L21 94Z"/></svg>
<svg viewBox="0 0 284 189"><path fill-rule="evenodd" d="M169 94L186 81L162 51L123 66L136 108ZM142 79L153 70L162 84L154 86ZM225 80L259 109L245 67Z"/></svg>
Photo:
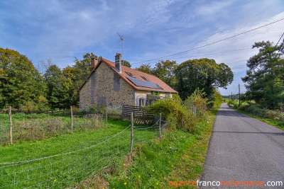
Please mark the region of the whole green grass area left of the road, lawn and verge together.
<svg viewBox="0 0 284 189"><path fill-rule="evenodd" d="M157 125L134 127L130 154L130 122L116 119L99 130L0 147L0 188L173 188L196 181L216 113L202 118L195 134L173 130L160 139Z"/></svg>

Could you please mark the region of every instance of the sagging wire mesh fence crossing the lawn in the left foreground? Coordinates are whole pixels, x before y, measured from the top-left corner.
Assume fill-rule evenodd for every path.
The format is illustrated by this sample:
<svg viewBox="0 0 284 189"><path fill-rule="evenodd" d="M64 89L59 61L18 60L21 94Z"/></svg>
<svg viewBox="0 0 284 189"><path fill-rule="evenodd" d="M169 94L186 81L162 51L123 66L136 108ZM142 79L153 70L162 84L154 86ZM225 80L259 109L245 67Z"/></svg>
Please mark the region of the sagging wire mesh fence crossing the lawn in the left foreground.
<svg viewBox="0 0 284 189"><path fill-rule="evenodd" d="M135 149L136 144L157 138L168 122L158 120L151 127L131 125ZM0 163L0 188L77 188L129 153L131 125L117 134L77 145L61 154Z"/></svg>

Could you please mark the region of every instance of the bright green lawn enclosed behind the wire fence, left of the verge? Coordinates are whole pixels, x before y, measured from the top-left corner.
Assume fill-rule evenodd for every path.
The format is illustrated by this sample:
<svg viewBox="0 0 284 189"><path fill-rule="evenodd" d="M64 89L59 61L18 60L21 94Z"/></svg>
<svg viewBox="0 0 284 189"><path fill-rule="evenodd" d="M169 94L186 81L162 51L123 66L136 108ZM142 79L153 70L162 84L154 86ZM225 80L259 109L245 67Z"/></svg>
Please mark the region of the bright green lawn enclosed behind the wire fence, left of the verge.
<svg viewBox="0 0 284 189"><path fill-rule="evenodd" d="M129 153L129 125L127 121L109 120L106 129L0 147L0 188L74 187ZM156 136L153 130L134 130L135 142ZM42 159L47 156L53 157ZM11 162L16 163L4 164Z"/></svg>

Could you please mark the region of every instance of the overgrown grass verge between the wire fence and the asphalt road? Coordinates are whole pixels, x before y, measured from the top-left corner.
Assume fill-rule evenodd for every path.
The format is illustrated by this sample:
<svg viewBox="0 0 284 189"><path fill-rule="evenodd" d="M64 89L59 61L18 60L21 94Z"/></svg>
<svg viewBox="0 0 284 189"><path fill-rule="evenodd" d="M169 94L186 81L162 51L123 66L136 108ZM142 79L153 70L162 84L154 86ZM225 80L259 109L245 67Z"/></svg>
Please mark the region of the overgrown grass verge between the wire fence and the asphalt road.
<svg viewBox="0 0 284 189"><path fill-rule="evenodd" d="M203 171L217 110L199 122L199 134L171 130L162 139L138 144L134 154L81 188L174 188L178 181L196 181Z"/></svg>

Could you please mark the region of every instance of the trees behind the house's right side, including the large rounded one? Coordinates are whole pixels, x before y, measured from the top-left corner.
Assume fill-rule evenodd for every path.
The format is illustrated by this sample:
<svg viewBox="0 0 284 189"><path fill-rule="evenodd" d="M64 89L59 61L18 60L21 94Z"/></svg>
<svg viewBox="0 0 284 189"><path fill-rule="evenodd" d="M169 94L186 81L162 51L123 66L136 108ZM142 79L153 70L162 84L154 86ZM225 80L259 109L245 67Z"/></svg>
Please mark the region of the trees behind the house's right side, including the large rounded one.
<svg viewBox="0 0 284 189"><path fill-rule="evenodd" d="M212 106L216 98L217 88L226 88L234 80L231 68L224 64L217 64L214 59L190 59L182 64L175 61L161 60L151 67L141 64L139 71L158 76L166 84L178 91L180 98L185 101L196 89L204 92Z"/></svg>

